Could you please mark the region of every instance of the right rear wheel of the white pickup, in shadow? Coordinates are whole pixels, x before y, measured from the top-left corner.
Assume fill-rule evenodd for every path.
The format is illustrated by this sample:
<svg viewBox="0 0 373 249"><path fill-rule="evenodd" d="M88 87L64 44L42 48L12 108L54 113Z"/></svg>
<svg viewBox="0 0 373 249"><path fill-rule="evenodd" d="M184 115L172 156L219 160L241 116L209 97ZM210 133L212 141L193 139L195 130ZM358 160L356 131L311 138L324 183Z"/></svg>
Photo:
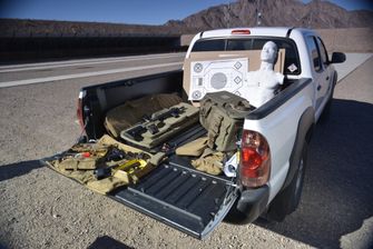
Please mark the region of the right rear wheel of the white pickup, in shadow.
<svg viewBox="0 0 373 249"><path fill-rule="evenodd" d="M283 221L287 215L296 210L301 201L306 163L307 142L304 142L302 156L297 161L297 169L292 181L275 197L263 218L269 221Z"/></svg>

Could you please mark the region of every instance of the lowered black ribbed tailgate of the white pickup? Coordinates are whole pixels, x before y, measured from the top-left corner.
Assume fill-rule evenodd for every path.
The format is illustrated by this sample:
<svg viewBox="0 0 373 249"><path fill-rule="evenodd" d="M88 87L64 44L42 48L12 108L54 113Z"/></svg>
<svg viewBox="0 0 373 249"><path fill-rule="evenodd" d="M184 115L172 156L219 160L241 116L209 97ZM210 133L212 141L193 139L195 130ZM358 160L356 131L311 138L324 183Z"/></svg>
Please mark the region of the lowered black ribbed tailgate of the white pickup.
<svg viewBox="0 0 373 249"><path fill-rule="evenodd" d="M203 238L236 199L233 183L175 162L163 163L114 198L140 212Z"/></svg>

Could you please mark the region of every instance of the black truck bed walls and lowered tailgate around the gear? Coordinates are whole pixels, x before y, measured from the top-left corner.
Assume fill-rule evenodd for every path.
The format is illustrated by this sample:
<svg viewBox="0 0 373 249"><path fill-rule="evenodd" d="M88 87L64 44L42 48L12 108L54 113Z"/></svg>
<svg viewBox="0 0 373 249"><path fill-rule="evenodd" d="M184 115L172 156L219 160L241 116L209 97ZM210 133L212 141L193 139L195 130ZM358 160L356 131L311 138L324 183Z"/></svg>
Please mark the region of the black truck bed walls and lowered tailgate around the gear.
<svg viewBox="0 0 373 249"><path fill-rule="evenodd" d="M81 110L85 110L82 118L87 120L87 140L102 136L106 132L102 124L105 113L127 100L154 93L176 92L183 97L181 77L183 71L175 71L84 88ZM266 117L301 91L307 81L308 79L286 79L284 83L286 89L263 108L253 110L249 113L251 118L256 120ZM192 127L166 142L171 147L178 147L204 135L206 130L200 126ZM155 151L159 149L155 148ZM202 239L224 219L241 192L236 187L237 179L197 171L192 167L190 160L189 157L171 155L166 162L158 165L138 183L117 189L109 196L139 212ZM253 201L265 207L267 193L265 191L253 195L249 200L244 200L248 203L247 207L254 207ZM249 210L248 219L259 215L258 207L255 206Z"/></svg>

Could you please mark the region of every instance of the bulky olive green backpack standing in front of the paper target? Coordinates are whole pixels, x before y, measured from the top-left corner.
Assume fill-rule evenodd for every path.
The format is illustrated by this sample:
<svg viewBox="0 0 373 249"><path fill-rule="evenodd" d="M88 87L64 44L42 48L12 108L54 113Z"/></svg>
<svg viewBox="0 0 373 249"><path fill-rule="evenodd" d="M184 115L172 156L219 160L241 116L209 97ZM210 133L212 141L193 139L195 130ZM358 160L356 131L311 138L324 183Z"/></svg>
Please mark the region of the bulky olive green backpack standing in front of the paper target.
<svg viewBox="0 0 373 249"><path fill-rule="evenodd" d="M245 117L252 110L248 101L227 91L207 93L200 101L199 122L208 131L208 147L217 151L233 151Z"/></svg>

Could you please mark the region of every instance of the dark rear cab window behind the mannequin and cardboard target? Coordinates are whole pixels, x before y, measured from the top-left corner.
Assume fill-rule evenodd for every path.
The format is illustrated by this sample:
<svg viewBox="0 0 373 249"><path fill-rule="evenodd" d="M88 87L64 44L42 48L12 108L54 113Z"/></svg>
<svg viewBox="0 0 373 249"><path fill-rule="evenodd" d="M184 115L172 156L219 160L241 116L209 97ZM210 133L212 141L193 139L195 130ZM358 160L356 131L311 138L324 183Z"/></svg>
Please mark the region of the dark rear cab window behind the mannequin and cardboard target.
<svg viewBox="0 0 373 249"><path fill-rule="evenodd" d="M202 39L192 48L192 52L262 50L267 41L273 41L278 49L285 49L285 74L300 74L301 63L294 41L281 38L249 38L249 39Z"/></svg>

